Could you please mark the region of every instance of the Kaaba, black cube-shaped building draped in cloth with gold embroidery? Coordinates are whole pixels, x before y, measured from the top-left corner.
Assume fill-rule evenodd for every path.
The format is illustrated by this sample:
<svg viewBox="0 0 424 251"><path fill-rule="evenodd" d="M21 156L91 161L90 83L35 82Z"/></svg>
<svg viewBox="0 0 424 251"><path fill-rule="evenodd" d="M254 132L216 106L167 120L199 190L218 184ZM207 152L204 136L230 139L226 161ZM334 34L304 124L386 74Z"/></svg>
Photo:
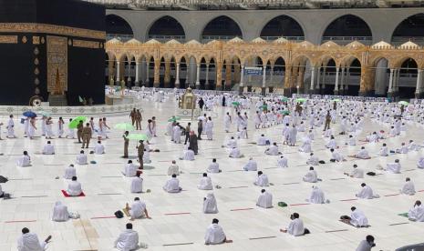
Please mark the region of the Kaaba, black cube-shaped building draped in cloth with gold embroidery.
<svg viewBox="0 0 424 251"><path fill-rule="evenodd" d="M0 0L0 105L105 103L105 7Z"/></svg>

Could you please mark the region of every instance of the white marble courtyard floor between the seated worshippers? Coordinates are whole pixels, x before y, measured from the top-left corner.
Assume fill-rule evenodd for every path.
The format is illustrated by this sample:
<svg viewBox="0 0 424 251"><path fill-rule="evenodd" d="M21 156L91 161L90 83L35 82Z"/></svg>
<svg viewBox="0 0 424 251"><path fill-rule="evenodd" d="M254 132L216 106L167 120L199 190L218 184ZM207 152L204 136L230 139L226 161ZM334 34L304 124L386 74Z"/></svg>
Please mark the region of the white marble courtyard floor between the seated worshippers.
<svg viewBox="0 0 424 251"><path fill-rule="evenodd" d="M177 159L182 153L182 145L171 144L170 138L164 136L166 120L174 114L175 104L172 99L160 104L150 101L144 104L143 128L147 118L152 115L156 115L159 121L158 137L152 141L152 147L160 148L160 153L150 154L152 163L148 166L153 168L145 170L143 174L144 190L150 189L151 193L137 195L146 202L152 219L136 220L133 224L140 234L140 241L148 244L149 250L355 250L359 241L369 234L376 237L377 250L394 250L399 246L423 241L423 223L408 222L407 218L398 216L399 213L408 212L415 200L423 200L424 171L416 167L417 159L424 154L423 150L408 155L375 157L380 144L367 144L363 146L367 146L372 159L348 158L342 164L330 164L329 151L325 149L325 140L320 135L321 129L317 129L313 149L315 155L327 163L315 168L323 179L318 185L326 192L331 203L305 205L305 198L309 196L312 186L302 182L302 176L309 167L305 165L308 155L299 153L297 147L280 145L289 159L289 167L277 168L277 156L264 156L264 146L249 143L255 142L262 133L281 143L281 126L255 131L251 121L250 138L239 141L246 157L229 159L221 146L233 133L223 132L224 109L218 108L214 113L208 113L215 121L214 140L199 142L200 154L195 161L178 161L183 171L180 181L184 190L180 194L167 194L161 186L169 178L166 176L168 166L172 159ZM54 119L56 121L57 118ZM5 123L6 118L1 121ZM129 121L128 116L109 118L111 125L125 121ZM184 121L181 124L185 126ZM367 120L362 138L377 127ZM88 156L89 160L97 161L96 165L77 166L78 179L86 196L66 198L60 190L66 189L67 181L55 177L63 176L65 167L75 162L80 145L75 140L56 138L52 141L57 155L41 156L36 153L40 152L46 140L42 137L35 140L23 138L21 126L18 125L16 129L19 138L0 141L0 151L4 153L4 156L0 156L0 175L11 179L2 186L5 192L14 196L10 200L0 200L0 250L16 250L16 239L24 226L40 238L52 235L48 250L113 250L115 238L129 221L110 216L136 196L129 193L129 178L120 174L127 162L120 157L122 132L111 130L110 139L104 141L106 155ZM389 148L398 147L410 138L421 143L424 139L421 132L422 128L409 126L407 133L384 142L388 143ZM337 136L336 139L344 142L345 138ZM342 147L340 151L347 156L359 148ZM33 166L16 166L16 158L23 150L32 156ZM130 143L130 155L136 155L134 142ZM256 174L241 171L248 156L258 161L259 170L263 170L274 184L267 188L274 195L274 208L255 206L261 190L253 186ZM222 168L221 174L212 175L213 185L222 186L214 190L220 212L217 215L204 215L202 199L206 192L198 190L197 184L213 157L218 159ZM395 158L400 159L403 168L399 175L366 176L362 180L343 175L355 163L366 171L374 171L377 164L384 165ZM407 176L412 178L420 192L415 196L396 195ZM355 198L362 182L372 186L381 197L349 200ZM70 211L78 212L81 218L66 223L52 222L53 205L58 200L65 203ZM276 206L279 201L289 206ZM355 228L338 221L339 216L350 214L351 206L357 206L365 212L371 227ZM310 235L294 237L279 232L280 228L288 225L289 216L294 212L300 214L305 227L311 231ZM219 218L220 225L226 235L233 239L233 244L203 245L205 229L214 217Z"/></svg>

